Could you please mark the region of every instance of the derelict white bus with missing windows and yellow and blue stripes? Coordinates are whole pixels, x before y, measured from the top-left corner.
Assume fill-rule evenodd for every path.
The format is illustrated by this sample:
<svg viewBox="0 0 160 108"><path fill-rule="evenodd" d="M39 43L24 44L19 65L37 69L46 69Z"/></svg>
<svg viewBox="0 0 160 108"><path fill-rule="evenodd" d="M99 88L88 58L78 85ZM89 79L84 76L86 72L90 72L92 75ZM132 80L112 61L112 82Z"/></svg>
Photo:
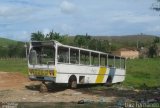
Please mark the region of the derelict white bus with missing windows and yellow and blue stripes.
<svg viewBox="0 0 160 108"><path fill-rule="evenodd" d="M77 84L118 83L125 79L125 67L123 57L57 41L33 41L29 47L31 80L65 83L71 88Z"/></svg>

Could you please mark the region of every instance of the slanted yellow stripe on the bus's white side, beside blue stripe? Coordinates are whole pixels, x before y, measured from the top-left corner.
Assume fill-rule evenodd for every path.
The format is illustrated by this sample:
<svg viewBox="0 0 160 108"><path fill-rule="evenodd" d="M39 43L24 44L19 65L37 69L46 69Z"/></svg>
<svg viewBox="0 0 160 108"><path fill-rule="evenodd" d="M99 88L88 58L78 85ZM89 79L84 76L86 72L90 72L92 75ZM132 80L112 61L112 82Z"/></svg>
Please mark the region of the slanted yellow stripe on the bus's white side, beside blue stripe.
<svg viewBox="0 0 160 108"><path fill-rule="evenodd" d="M99 73L96 78L96 83L103 83L104 74L106 74L107 68L106 67L100 67Z"/></svg>

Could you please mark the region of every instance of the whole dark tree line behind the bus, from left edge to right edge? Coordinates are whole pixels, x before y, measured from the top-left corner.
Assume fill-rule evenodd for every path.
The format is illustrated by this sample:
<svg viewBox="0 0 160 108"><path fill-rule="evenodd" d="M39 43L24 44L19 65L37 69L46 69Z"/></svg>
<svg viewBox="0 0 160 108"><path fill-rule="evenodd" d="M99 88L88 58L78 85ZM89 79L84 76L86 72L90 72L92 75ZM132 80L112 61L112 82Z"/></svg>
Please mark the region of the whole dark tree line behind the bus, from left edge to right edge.
<svg viewBox="0 0 160 108"><path fill-rule="evenodd" d="M31 33L31 40L32 41L48 41L48 40L57 40L58 42L61 42L62 44L86 48L86 49L92 49L102 52L111 53L112 51L116 51L120 46L126 46L127 47L136 47L134 44L129 46L126 45L119 45L117 43L111 43L107 39L98 39L94 38L93 36L90 36L88 34L85 35L76 35L76 36L68 36L68 35L61 35L60 33L54 32L53 30L49 32L48 34L44 34L40 31ZM117 44L117 45L116 45ZM125 44L125 43L121 43ZM7 46L0 46L0 58L13 58L13 57L26 57L26 49L25 49L25 43L24 42L16 42L16 44L9 44ZM143 46L143 44L140 45L140 47ZM141 50L141 48L137 50ZM147 52L145 52L147 57L157 57L160 55L160 38L155 37L153 39L153 42L149 44L149 46L146 46Z"/></svg>

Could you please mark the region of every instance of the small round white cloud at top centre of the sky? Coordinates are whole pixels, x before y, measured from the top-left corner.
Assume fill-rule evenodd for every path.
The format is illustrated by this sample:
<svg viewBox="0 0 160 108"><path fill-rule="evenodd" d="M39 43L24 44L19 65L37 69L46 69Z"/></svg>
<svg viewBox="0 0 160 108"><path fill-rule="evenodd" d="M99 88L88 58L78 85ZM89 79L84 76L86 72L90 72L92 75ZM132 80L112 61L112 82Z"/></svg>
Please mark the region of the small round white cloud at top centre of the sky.
<svg viewBox="0 0 160 108"><path fill-rule="evenodd" d="M63 13L70 14L76 10L76 6L69 1L63 1L60 4L60 9Z"/></svg>

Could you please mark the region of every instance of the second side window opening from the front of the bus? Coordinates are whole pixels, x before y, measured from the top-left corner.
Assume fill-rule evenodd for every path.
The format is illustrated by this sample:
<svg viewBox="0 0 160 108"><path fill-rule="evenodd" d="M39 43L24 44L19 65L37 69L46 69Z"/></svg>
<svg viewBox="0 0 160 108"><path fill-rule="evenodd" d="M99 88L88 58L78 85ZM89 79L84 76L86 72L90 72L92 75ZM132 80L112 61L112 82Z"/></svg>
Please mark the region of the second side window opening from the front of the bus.
<svg viewBox="0 0 160 108"><path fill-rule="evenodd" d="M70 63L79 64L79 50L70 49Z"/></svg>

